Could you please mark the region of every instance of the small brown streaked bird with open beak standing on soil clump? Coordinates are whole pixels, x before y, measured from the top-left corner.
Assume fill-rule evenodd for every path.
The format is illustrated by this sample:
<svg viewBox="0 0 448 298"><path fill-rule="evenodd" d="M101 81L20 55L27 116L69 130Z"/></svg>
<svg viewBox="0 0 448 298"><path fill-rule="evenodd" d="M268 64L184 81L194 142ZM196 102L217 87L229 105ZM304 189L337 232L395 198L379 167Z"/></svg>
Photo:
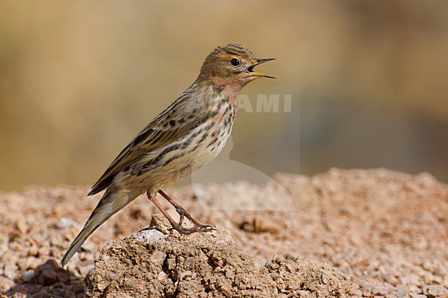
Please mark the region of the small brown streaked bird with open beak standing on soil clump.
<svg viewBox="0 0 448 298"><path fill-rule="evenodd" d="M105 193L65 251L61 266L96 228L143 193L179 233L212 231L212 226L199 223L162 189L218 155L232 131L239 92L256 78L274 78L254 71L256 65L272 60L275 58L256 58L238 43L210 52L196 81L131 140L93 185L88 195ZM174 206L179 222L163 209L157 193ZM185 217L194 226L185 228Z"/></svg>

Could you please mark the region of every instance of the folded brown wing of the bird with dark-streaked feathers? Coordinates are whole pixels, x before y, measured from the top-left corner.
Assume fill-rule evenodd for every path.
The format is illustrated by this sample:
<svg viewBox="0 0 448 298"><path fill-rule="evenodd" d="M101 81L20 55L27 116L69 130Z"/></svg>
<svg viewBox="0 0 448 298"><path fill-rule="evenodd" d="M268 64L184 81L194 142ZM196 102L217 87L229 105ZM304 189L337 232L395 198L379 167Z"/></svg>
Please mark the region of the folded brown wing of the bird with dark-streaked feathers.
<svg viewBox="0 0 448 298"><path fill-rule="evenodd" d="M187 103L178 98L159 116L154 118L128 146L116 156L101 178L94 184L88 195L99 193L110 186L115 175L141 158L144 154L174 142L187 134L201 120L201 113L192 113ZM185 98L183 98L185 100ZM187 101L187 100L186 100ZM174 116L175 114L175 116Z"/></svg>

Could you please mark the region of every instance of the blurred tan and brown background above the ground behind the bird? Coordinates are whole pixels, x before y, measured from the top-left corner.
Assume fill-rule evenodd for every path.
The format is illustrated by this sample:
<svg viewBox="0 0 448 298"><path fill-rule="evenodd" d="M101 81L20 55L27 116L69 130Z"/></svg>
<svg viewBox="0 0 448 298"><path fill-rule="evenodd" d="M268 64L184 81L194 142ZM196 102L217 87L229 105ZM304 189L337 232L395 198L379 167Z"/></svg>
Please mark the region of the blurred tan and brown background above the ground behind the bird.
<svg viewBox="0 0 448 298"><path fill-rule="evenodd" d="M238 112L231 160L448 182L447 15L444 0L1 1L0 189L93 184L229 42L277 58L251 103L292 94L288 113Z"/></svg>

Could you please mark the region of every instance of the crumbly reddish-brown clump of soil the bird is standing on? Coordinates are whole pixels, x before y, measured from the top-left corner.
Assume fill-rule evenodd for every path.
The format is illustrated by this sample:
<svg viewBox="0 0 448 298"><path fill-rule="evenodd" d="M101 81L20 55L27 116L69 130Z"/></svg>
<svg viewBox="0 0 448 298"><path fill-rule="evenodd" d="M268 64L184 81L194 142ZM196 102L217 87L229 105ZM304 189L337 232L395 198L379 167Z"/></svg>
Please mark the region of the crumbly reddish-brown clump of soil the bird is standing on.
<svg viewBox="0 0 448 298"><path fill-rule="evenodd" d="M88 275L89 297L347 297L349 278L331 266L243 251L232 233L141 231L103 248ZM110 295L110 296L109 296Z"/></svg>

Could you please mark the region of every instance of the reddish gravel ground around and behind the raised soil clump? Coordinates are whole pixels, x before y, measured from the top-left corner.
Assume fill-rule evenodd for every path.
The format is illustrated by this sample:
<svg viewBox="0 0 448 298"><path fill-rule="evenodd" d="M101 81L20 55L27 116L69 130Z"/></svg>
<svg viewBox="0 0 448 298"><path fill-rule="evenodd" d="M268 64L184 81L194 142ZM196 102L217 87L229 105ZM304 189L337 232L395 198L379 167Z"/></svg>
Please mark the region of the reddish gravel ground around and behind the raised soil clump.
<svg viewBox="0 0 448 298"><path fill-rule="evenodd" d="M199 221L229 230L240 251L261 268L272 259L325 263L349 278L351 297L448 297L446 184L428 173L386 169L278 174L274 180L165 192ZM62 269L59 259L100 198L87 192L88 187L62 185L0 193L1 297L85 297L85 277L101 247L147 227L156 212L138 198ZM157 254L152 257L156 262ZM296 297L307 297L298 291Z"/></svg>

